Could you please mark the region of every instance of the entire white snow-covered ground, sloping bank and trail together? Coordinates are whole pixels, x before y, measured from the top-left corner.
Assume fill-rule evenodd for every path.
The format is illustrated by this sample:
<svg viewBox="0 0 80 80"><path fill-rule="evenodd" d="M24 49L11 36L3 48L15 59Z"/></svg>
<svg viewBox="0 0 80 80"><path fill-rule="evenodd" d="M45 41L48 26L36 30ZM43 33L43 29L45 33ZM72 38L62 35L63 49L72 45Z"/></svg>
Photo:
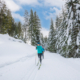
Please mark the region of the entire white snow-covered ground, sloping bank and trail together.
<svg viewBox="0 0 80 80"><path fill-rule="evenodd" d="M45 51L40 70L37 61L35 47L0 34L0 80L80 80L79 58Z"/></svg>

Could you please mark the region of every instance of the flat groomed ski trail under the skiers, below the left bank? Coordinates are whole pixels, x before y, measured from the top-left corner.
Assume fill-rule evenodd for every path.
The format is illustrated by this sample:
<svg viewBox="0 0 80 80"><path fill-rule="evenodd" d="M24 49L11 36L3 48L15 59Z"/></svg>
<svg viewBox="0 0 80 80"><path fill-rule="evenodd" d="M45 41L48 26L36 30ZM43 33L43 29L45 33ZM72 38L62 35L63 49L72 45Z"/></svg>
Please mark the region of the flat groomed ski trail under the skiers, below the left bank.
<svg viewBox="0 0 80 80"><path fill-rule="evenodd" d="M40 70L35 65L35 56L24 57L0 68L0 80L80 80L80 64L77 67L72 64L58 54L45 52Z"/></svg>

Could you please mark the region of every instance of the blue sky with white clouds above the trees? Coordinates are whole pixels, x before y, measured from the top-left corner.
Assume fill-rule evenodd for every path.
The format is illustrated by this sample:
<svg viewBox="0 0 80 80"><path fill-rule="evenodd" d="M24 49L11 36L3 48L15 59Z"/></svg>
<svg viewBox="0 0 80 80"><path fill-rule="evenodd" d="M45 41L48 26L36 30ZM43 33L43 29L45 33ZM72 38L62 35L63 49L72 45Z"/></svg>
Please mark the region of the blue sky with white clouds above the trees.
<svg viewBox="0 0 80 80"><path fill-rule="evenodd" d="M41 32L48 36L50 28L50 19L55 22L56 15L61 13L65 0L4 0L8 9L11 10L15 21L24 23L24 12L30 10L37 12L41 21Z"/></svg>

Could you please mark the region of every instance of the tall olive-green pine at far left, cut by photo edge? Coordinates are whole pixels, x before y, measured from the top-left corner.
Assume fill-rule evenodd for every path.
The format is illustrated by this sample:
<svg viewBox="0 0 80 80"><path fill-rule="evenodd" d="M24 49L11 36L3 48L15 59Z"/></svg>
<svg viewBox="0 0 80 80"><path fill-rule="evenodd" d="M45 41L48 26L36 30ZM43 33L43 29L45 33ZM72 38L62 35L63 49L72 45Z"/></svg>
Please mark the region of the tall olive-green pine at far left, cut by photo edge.
<svg viewBox="0 0 80 80"><path fill-rule="evenodd" d="M9 33L12 26L12 15L9 9L7 9L4 1L0 1L0 33Z"/></svg>

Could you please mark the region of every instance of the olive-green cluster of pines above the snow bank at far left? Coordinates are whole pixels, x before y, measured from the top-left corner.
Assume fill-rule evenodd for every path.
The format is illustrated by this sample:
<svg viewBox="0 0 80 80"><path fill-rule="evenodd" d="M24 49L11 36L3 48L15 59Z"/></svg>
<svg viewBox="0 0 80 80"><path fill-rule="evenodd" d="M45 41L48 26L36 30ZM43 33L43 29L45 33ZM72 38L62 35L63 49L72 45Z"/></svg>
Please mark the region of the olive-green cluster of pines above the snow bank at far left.
<svg viewBox="0 0 80 80"><path fill-rule="evenodd" d="M11 11L6 7L4 1L0 0L0 33L9 34L14 38L21 39L21 22L15 22Z"/></svg>

